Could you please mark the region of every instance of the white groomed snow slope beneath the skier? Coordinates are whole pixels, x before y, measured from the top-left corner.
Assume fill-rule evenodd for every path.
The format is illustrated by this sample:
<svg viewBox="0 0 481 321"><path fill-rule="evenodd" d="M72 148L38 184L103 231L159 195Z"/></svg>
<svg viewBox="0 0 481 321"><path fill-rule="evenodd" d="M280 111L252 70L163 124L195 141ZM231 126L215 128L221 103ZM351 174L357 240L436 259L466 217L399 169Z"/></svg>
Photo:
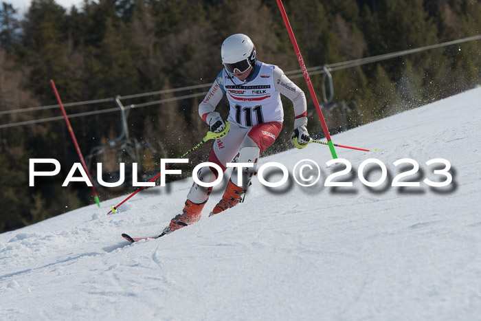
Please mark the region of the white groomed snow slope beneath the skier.
<svg viewBox="0 0 481 321"><path fill-rule="evenodd" d="M1 320L480 320L481 88L333 136L353 169L327 166L327 146L309 144L260 159L280 162L291 179L267 188L258 176L245 202L198 223L130 244L120 234L155 236L181 211L191 179L101 200L20 230L0 234ZM54 157L54 155L52 155ZM366 159L387 167L383 184L358 177ZM394 166L414 159L419 170ZM443 164L453 177L445 187ZM295 183L294 165L312 159L321 178ZM368 181L380 167L363 169ZM304 168L304 177L313 171ZM280 170L266 171L269 181ZM298 179L299 175L297 175ZM40 179L40 178L39 178ZM302 182L302 181L301 181ZM224 183L225 184L225 183Z"/></svg>

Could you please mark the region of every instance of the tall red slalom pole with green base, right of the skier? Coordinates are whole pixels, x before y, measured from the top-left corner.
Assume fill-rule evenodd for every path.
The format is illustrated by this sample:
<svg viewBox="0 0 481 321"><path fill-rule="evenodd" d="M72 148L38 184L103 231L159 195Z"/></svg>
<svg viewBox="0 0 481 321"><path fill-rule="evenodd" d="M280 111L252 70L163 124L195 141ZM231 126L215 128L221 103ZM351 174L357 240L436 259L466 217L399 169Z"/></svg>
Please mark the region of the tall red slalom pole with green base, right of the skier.
<svg viewBox="0 0 481 321"><path fill-rule="evenodd" d="M311 98L313 99L315 110L317 111L317 115L319 116L319 119L321 120L322 124L322 130L324 131L324 134L326 135L327 138L327 144L329 146L329 149L331 150L331 154L333 155L333 158L337 158L337 154L334 148L334 144L331 140L331 135L329 135L329 130L327 128L326 120L324 120L324 115L322 115L322 110L320 107L319 102L317 101L317 96L315 96L315 91L313 88L313 85L311 83L311 78L309 78L309 74L307 73L306 65L304 64L304 60L302 59L302 55L300 53L300 49L298 46L297 41L295 41L294 33L292 31L291 23L289 23L289 19L287 19L287 14L286 10L284 9L284 5L282 5L282 0L277 0L277 4L279 6L280 14L282 14L282 19L284 19L284 24L287 27L287 32L289 33L289 37L291 38L291 43L294 47L295 54L298 56L298 61L300 64L300 67L302 69L302 73L304 74L304 79L306 80L307 87L309 88L309 92L311 93Z"/></svg>

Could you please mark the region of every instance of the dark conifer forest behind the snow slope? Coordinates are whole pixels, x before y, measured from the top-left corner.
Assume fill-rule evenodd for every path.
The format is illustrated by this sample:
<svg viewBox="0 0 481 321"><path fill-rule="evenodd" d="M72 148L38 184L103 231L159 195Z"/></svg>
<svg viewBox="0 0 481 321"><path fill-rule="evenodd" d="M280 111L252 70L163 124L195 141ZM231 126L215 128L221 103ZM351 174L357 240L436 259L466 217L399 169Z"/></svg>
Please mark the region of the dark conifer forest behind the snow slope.
<svg viewBox="0 0 481 321"><path fill-rule="evenodd" d="M308 69L481 34L481 0L282 2ZM126 163L125 186L94 184L107 202L136 189L128 173L133 162L139 180L148 181L161 158L178 158L202 139L208 126L197 107L223 68L223 40L235 33L247 34L258 60L278 65L304 90L309 132L324 137L274 0L85 0L71 8L33 0L23 14L0 2L0 232L94 202L84 183L62 186L79 159L49 80L73 116L93 180L97 162L105 181L116 181L119 163ZM330 73L332 90L325 73L311 78L332 135L479 86L481 40ZM282 99L282 135L267 154L292 148L292 104ZM225 98L217 109L227 116ZM203 144L179 167L205 161L211 146ZM29 186L34 158L58 159L60 173Z"/></svg>

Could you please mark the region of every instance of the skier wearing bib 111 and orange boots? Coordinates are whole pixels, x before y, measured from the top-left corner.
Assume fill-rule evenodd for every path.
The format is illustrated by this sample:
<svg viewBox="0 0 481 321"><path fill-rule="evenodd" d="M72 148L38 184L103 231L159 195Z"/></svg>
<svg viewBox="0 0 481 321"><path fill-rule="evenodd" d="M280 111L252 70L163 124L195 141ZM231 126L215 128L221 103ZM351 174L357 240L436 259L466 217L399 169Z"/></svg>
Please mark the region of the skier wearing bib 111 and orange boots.
<svg viewBox="0 0 481 321"><path fill-rule="evenodd" d="M256 47L248 36L233 34L226 38L221 47L221 57L224 68L199 104L199 115L210 126L210 131L225 134L214 142L208 162L219 165L225 171L226 164L237 155L238 163L254 163L254 167L234 168L224 195L210 216L243 201L260 153L273 144L282 129L284 111L279 93L293 102L295 120L291 142L297 148L304 148L310 140L306 129L304 92L279 67L258 61ZM230 104L227 118L230 129L215 111L224 94ZM208 166L198 173L199 180L205 183L215 181L217 175L217 171ZM240 186L236 185L238 175L242 175ZM170 221L160 236L199 221L211 191L212 188L194 183L182 213Z"/></svg>

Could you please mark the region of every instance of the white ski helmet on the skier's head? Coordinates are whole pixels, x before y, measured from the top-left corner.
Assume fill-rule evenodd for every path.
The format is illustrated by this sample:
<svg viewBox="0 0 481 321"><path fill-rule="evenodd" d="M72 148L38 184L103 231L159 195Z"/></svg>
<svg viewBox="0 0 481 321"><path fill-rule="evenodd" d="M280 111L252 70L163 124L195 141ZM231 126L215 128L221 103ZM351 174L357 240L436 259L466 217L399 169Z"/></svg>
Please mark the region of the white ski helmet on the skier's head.
<svg viewBox="0 0 481 321"><path fill-rule="evenodd" d="M244 72L256 64L256 46L245 34L233 34L222 43L221 57L230 74L234 74L235 69Z"/></svg>

